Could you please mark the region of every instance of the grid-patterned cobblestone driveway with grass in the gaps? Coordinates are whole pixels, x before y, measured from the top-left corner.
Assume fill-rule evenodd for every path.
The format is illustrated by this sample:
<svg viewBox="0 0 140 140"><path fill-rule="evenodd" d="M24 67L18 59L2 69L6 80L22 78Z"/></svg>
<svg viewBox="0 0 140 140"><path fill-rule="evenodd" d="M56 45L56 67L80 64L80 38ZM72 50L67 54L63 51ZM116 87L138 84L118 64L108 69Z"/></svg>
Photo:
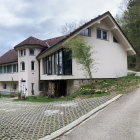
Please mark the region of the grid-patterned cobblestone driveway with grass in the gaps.
<svg viewBox="0 0 140 140"><path fill-rule="evenodd" d="M115 94L68 102L25 103L0 99L0 140L37 140L76 120Z"/></svg>

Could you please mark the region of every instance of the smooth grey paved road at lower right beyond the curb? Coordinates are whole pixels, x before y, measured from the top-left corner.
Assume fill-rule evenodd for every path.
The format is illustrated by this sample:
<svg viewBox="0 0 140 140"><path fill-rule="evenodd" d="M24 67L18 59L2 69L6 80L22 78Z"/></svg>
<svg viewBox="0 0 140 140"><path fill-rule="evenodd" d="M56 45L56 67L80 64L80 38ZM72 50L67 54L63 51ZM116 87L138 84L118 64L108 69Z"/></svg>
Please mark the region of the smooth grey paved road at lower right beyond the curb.
<svg viewBox="0 0 140 140"><path fill-rule="evenodd" d="M61 140L140 140L140 88L113 102Z"/></svg>

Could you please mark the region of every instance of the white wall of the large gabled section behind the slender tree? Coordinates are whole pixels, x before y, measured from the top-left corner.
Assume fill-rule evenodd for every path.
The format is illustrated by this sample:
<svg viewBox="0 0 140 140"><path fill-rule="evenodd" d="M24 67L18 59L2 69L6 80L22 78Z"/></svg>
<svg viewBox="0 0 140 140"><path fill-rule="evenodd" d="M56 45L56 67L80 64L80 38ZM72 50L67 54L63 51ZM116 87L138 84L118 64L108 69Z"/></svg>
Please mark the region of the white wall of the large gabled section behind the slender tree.
<svg viewBox="0 0 140 140"><path fill-rule="evenodd" d="M101 28L108 31L109 40L101 40L96 37L96 29ZM113 42L113 33L105 24L98 24L91 27L91 37L84 37L89 45L93 47L93 59L95 65L92 68L93 78L117 78L127 75L127 52L120 43ZM72 75L59 76L43 74L43 63L40 61L41 80L61 80L61 79L87 79L86 72L82 66L72 61Z"/></svg>

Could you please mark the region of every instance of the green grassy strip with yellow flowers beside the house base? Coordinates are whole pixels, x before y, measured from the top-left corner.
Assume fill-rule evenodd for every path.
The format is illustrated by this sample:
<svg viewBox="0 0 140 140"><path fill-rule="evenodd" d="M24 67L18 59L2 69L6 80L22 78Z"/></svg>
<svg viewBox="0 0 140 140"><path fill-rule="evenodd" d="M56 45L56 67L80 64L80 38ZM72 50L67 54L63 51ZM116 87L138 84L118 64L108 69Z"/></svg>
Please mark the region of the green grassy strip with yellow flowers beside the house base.
<svg viewBox="0 0 140 140"><path fill-rule="evenodd" d="M75 98L91 98L106 96L111 93L128 93L136 89L140 84L140 77L130 73L127 77L117 79L108 79L98 81L86 86L82 86L78 91L63 97L63 98L48 98L48 97L28 97L25 100L15 101L29 101L29 102L54 102L54 101L68 101Z"/></svg>

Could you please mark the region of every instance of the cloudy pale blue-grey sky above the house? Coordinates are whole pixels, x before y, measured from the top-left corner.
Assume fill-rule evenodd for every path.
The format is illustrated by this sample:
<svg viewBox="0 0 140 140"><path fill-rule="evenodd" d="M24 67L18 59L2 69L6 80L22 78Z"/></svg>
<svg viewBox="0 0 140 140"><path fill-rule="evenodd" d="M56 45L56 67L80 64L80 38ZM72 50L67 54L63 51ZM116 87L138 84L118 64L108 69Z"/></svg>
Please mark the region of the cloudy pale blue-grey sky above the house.
<svg viewBox="0 0 140 140"><path fill-rule="evenodd" d="M29 36L61 35L66 22L119 12L122 0L0 0L0 56Z"/></svg>

